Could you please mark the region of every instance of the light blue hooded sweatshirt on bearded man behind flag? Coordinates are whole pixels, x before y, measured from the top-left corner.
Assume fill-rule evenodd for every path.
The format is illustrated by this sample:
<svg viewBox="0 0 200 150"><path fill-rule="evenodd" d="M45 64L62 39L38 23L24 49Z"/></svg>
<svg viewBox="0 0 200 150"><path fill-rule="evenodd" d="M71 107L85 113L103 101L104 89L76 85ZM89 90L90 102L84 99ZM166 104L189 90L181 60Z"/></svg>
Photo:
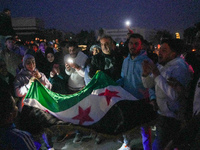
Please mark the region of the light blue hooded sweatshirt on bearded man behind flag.
<svg viewBox="0 0 200 150"><path fill-rule="evenodd" d="M144 50L140 51L140 54L131 59L130 54L124 59L122 64L121 79L117 82L122 85L122 87L135 96L138 99L149 98L149 89L145 88L142 83L142 62L144 60L150 60ZM154 93L151 93L152 98ZM153 98L154 97L154 98Z"/></svg>

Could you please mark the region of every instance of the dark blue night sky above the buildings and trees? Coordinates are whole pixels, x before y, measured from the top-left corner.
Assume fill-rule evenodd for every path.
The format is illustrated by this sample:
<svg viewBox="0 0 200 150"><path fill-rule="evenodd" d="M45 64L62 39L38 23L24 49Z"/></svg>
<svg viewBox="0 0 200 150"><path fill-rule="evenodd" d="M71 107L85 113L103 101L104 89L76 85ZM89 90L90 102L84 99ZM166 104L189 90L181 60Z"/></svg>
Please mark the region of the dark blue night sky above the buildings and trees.
<svg viewBox="0 0 200 150"><path fill-rule="evenodd" d="M183 32L200 22L200 0L0 0L12 17L43 19L45 28L83 30L131 27Z"/></svg>

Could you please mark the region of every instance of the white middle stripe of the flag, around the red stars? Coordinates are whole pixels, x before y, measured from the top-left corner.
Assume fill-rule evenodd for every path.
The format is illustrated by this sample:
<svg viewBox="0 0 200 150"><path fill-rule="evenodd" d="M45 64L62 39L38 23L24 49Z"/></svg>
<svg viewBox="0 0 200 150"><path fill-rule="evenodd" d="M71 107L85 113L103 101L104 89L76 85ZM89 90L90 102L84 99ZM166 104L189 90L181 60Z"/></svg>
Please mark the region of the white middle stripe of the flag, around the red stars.
<svg viewBox="0 0 200 150"><path fill-rule="evenodd" d="M117 97L112 97L110 99L110 103L108 105L108 102L106 100L106 96L99 96L99 94L104 93L105 91L117 91L116 94ZM120 86L108 86L103 89L97 89L94 90L91 95L87 96L83 100L81 100L79 103L77 103L75 106L61 111L61 112L52 112L50 110L49 113L54 115L55 117L65 121L65 122L71 122L73 124L79 124L80 120L72 119L73 117L77 116L79 114L79 107L82 110L86 110L90 108L90 113L88 114L90 118L93 119L93 121L84 121L82 125L91 125L95 122L99 121L108 111L109 109L116 104L117 102L121 100L138 100L134 96L132 96L130 93L125 91ZM26 105L37 107L42 110L47 110L45 107L43 107L37 100L34 99L26 99L24 101Z"/></svg>

